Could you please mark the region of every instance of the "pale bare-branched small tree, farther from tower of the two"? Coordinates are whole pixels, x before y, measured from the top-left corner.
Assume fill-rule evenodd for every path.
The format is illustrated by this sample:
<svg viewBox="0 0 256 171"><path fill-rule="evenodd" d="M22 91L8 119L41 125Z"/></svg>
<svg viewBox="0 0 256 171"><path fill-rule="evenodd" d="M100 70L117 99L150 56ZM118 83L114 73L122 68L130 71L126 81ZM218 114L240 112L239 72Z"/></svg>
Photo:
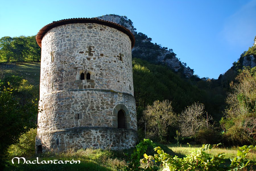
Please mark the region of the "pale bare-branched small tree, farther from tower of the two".
<svg viewBox="0 0 256 171"><path fill-rule="evenodd" d="M179 116L181 135L194 136L201 128L207 126L203 117L205 106L202 103L193 103L181 112Z"/></svg>

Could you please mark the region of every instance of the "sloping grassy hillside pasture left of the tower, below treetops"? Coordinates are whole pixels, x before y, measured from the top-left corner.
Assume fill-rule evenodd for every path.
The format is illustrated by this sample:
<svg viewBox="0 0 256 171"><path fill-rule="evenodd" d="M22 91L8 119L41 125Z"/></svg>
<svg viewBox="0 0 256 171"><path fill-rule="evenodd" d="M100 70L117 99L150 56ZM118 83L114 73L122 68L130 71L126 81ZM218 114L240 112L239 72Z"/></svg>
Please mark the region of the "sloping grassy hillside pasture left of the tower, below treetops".
<svg viewBox="0 0 256 171"><path fill-rule="evenodd" d="M5 76L21 76L35 85L40 83L40 62L17 62L16 66L11 68L6 68L2 63L0 69Z"/></svg>

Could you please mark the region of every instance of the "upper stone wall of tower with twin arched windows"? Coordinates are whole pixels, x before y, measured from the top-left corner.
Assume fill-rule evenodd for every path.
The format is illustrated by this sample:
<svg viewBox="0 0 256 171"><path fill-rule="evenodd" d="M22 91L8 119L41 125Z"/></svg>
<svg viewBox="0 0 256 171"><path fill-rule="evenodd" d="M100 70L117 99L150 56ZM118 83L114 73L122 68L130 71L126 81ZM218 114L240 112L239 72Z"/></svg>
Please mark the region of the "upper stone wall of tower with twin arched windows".
<svg viewBox="0 0 256 171"><path fill-rule="evenodd" d="M119 60L120 55L123 61ZM89 72L92 81L80 80L82 72ZM131 40L123 32L100 24L55 27L42 39L40 79L40 96L84 88L133 95Z"/></svg>

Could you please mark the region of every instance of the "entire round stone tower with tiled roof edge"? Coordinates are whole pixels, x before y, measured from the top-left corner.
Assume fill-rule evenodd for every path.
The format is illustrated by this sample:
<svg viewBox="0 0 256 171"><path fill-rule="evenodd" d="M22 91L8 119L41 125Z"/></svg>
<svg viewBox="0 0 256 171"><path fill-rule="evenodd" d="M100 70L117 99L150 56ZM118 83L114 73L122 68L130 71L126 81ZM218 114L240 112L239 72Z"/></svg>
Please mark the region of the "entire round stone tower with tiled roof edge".
<svg viewBox="0 0 256 171"><path fill-rule="evenodd" d="M133 147L133 34L113 22L73 18L44 26L36 41L42 48L36 151Z"/></svg>

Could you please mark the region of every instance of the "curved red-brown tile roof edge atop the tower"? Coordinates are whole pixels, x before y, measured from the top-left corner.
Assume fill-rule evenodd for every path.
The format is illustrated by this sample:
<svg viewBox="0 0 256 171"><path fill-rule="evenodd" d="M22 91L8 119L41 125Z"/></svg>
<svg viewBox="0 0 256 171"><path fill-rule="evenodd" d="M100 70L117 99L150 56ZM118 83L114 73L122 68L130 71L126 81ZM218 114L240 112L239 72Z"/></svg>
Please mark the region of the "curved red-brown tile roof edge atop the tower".
<svg viewBox="0 0 256 171"><path fill-rule="evenodd" d="M37 44L41 47L42 38L52 28L61 26L61 25L65 25L65 24L73 24L73 23L96 23L96 24L101 24L101 25L115 28L115 29L127 34L127 36L129 36L129 38L131 39L131 48L134 47L135 37L133 36L133 34L131 33L130 30L128 30L124 26L121 26L120 24L106 21L106 20L101 20L98 18L69 18L69 19L64 19L64 20L59 20L59 21L53 21L52 23L47 24L46 26L44 26L43 28L41 28L39 30L38 34L36 35Z"/></svg>

